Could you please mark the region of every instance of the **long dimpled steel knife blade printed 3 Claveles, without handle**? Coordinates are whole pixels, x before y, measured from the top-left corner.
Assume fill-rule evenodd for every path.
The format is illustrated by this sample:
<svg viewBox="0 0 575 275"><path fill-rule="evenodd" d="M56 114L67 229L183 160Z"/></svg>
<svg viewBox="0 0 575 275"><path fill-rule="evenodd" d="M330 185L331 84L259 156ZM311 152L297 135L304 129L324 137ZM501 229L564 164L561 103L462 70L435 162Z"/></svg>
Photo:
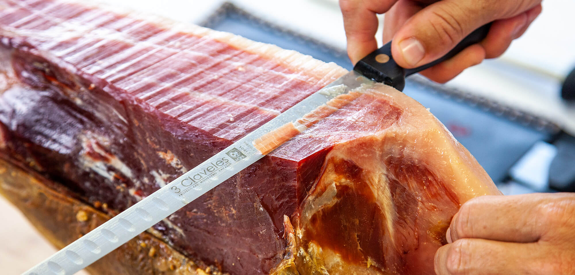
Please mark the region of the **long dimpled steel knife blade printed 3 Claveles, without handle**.
<svg viewBox="0 0 575 275"><path fill-rule="evenodd" d="M273 149L260 152L262 148L254 145L259 138L289 123L297 124L298 119L338 95L373 83L358 72L348 72L23 274L78 272L258 161ZM283 142L274 142L273 147Z"/></svg>

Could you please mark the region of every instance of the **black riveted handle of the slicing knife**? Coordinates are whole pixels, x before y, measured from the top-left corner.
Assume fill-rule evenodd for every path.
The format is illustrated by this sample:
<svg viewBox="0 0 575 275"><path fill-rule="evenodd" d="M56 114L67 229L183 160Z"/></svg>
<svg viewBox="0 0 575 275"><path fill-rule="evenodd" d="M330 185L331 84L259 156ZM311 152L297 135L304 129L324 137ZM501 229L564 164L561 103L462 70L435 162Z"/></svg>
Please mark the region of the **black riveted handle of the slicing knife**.
<svg viewBox="0 0 575 275"><path fill-rule="evenodd" d="M463 38L459 44L455 45L451 51L440 59L417 68L404 69L400 67L400 65L397 65L396 61L393 60L392 57L392 42L390 41L388 44L385 44L384 47L371 52L366 57L363 57L362 60L359 60L359 62L355 64L354 70L366 76L366 78L373 79L376 82L385 83L402 91L405 87L405 78L407 76L433 67L436 64L454 57L459 52L463 51L463 49L481 42L481 40L487 36L490 27L491 23L481 26L481 28L474 30L468 36Z"/></svg>

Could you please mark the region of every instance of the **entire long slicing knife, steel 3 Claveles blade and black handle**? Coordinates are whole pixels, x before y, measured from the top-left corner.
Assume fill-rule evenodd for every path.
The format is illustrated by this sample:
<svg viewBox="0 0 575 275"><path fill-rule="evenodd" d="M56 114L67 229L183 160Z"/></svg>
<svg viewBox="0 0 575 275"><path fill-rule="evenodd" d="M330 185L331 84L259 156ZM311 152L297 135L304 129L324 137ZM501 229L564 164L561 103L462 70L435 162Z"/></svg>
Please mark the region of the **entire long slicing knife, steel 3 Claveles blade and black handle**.
<svg viewBox="0 0 575 275"><path fill-rule="evenodd" d="M359 61L351 72L321 88L22 274L67 275L82 270L289 140L284 138L262 148L260 141L267 134L286 126L304 130L304 126L298 125L298 119L336 96L363 85L382 82L402 91L407 76L432 67L457 55L469 45L480 42L486 37L489 27L488 24L475 30L440 59L413 69L404 69L397 65L393 60L389 42ZM228 161L224 162L222 158Z"/></svg>

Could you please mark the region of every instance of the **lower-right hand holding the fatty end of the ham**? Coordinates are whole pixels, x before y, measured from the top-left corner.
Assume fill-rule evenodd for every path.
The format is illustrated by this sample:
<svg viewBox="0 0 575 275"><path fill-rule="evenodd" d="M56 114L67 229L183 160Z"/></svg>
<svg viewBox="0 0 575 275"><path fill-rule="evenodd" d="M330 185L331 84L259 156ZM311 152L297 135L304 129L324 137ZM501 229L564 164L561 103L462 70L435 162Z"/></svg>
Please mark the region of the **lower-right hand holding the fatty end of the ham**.
<svg viewBox="0 0 575 275"><path fill-rule="evenodd" d="M481 196L435 254L438 275L575 274L575 194Z"/></svg>

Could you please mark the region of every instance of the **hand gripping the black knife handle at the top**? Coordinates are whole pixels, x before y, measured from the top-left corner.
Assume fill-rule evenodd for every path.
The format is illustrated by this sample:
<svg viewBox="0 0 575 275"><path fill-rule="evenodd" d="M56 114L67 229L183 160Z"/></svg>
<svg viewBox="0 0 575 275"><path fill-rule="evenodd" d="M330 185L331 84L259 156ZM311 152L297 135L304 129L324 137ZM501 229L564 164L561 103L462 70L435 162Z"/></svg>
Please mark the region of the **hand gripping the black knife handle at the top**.
<svg viewBox="0 0 575 275"><path fill-rule="evenodd" d="M541 0L340 0L347 53L356 63L377 49L376 14L385 13L384 41L392 40L397 64L415 68L439 59L473 30L493 22L488 36L422 75L444 83L498 57L541 12Z"/></svg>

